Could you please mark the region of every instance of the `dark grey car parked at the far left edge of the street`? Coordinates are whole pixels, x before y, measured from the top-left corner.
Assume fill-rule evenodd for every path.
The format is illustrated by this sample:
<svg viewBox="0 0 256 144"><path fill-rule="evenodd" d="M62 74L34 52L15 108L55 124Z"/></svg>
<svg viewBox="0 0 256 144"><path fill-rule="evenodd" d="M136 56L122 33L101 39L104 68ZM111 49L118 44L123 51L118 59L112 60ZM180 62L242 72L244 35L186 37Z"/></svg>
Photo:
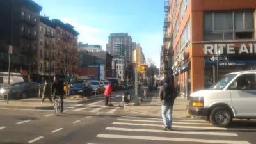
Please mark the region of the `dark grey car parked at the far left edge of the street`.
<svg viewBox="0 0 256 144"><path fill-rule="evenodd" d="M10 86L9 95L7 88L1 90L0 94L4 97L4 99L7 98L7 95L8 99L38 97L39 88L41 88L41 91L43 90L43 87L40 86L41 84L36 82L19 82Z"/></svg>

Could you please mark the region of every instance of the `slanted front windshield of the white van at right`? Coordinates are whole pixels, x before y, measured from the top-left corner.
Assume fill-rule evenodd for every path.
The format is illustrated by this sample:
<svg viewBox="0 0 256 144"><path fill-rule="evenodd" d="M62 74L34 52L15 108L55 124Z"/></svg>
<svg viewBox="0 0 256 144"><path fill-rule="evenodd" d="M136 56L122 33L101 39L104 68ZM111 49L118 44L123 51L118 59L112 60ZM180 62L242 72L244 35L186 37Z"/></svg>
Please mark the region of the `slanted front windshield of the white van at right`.
<svg viewBox="0 0 256 144"><path fill-rule="evenodd" d="M223 88L225 88L227 86L227 84L230 81L232 81L232 79L234 79L234 77L236 77L236 76L237 76L237 74L227 74L224 77L222 77L217 84L211 86L209 89L223 90Z"/></svg>

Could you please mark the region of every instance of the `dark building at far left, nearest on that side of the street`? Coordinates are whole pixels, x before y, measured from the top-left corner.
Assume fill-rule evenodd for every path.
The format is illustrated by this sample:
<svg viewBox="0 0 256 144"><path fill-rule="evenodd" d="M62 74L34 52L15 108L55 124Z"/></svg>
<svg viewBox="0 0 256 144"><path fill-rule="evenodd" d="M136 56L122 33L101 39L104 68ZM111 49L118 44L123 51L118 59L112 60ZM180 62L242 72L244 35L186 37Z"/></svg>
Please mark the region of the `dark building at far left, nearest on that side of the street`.
<svg viewBox="0 0 256 144"><path fill-rule="evenodd" d="M39 13L34 1L1 1L0 69L8 72L8 47L12 45L10 71L33 79L37 70ZM29 79L30 76L30 79Z"/></svg>

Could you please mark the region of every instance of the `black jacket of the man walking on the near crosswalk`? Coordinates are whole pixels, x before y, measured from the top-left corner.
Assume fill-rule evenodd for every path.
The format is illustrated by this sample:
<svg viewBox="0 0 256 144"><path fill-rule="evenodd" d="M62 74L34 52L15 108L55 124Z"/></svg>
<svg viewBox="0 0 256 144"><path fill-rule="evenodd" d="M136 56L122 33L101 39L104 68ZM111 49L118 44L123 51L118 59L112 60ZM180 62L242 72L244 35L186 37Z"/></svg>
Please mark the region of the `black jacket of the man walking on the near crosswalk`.
<svg viewBox="0 0 256 144"><path fill-rule="evenodd" d="M166 98L167 90L170 90L170 96L171 96L170 99ZM166 106L166 105L173 106L174 100L176 99L177 96L178 96L177 90L172 85L165 83L163 86L161 86L160 91L159 91L159 98L162 101L162 105L164 105L164 106Z"/></svg>

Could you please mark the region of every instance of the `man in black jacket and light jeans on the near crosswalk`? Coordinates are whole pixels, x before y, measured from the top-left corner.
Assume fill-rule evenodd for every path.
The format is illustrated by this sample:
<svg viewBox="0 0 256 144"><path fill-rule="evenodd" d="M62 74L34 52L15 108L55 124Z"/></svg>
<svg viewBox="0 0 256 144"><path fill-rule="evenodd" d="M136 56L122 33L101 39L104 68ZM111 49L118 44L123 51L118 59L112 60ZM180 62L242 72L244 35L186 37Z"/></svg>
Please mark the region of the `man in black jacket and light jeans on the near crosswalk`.
<svg viewBox="0 0 256 144"><path fill-rule="evenodd" d="M170 79L166 78L163 81L164 85L159 90L159 97L162 102L162 117L164 122L163 129L166 131L172 130L172 110L174 100L177 97L177 90L170 84ZM168 117L167 117L168 115Z"/></svg>

